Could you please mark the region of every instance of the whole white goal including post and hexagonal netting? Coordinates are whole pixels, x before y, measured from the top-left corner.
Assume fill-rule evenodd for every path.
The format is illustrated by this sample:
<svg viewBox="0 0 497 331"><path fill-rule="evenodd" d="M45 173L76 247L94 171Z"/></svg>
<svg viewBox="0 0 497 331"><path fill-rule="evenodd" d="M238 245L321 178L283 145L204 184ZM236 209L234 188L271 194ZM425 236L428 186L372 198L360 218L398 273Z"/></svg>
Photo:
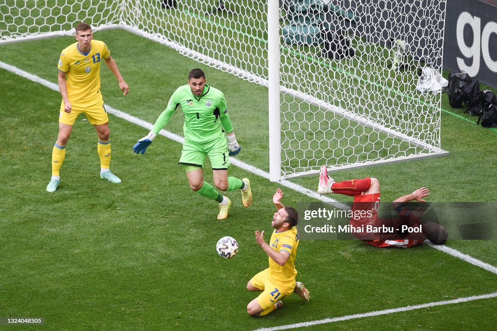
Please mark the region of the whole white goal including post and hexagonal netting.
<svg viewBox="0 0 497 331"><path fill-rule="evenodd" d="M269 89L273 181L446 155L441 72L446 0L0 1L0 44L120 27Z"/></svg>

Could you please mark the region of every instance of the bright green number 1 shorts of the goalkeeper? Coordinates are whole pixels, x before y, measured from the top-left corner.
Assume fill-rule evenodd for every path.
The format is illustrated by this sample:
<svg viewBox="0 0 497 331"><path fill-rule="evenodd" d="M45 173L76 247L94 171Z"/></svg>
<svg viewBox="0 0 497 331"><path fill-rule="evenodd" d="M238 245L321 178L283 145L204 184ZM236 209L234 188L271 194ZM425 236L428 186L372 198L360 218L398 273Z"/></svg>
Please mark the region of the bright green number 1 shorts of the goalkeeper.
<svg viewBox="0 0 497 331"><path fill-rule="evenodd" d="M226 170L230 167L228 143L226 138L204 144L184 142L181 150L180 165L204 167L205 157L208 156L213 170Z"/></svg>

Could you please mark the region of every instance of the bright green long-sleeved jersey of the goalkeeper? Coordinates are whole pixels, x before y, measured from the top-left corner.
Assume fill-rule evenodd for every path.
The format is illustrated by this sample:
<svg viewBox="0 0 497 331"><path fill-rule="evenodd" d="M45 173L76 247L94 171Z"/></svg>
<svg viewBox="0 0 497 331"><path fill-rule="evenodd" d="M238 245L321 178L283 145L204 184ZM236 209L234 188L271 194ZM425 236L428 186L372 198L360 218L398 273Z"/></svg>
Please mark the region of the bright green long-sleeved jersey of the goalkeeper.
<svg viewBox="0 0 497 331"><path fill-rule="evenodd" d="M226 132L233 131L223 92L206 84L202 95L196 96L187 84L178 87L171 95L166 110L152 129L155 134L166 126L178 106L184 114L185 142L208 143L224 137L223 128Z"/></svg>

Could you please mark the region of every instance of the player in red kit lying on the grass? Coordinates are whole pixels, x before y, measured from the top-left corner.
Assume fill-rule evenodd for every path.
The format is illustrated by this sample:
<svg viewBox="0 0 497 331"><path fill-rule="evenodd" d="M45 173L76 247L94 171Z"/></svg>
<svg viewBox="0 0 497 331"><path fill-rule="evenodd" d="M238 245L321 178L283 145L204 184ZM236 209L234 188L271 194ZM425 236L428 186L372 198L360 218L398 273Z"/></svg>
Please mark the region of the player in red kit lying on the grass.
<svg viewBox="0 0 497 331"><path fill-rule="evenodd" d="M375 247L412 247L428 239L435 245L443 245L447 240L445 228L434 222L421 223L419 220L423 210L418 208L410 211L407 203L410 201L425 202L424 197L428 196L429 189L421 187L413 193L401 196L394 200L393 207L399 214L398 219L378 218L380 206L380 181L376 178L363 178L335 182L328 175L326 166L321 167L319 174L318 193L329 194L338 193L354 197L352 204L352 215L366 215L366 217L351 217L350 225L357 229L367 229L370 225L375 229L396 229L395 233L389 232L353 232L357 239L365 241ZM412 232L402 232L402 225L406 225ZM421 232L414 232L414 229L421 228Z"/></svg>

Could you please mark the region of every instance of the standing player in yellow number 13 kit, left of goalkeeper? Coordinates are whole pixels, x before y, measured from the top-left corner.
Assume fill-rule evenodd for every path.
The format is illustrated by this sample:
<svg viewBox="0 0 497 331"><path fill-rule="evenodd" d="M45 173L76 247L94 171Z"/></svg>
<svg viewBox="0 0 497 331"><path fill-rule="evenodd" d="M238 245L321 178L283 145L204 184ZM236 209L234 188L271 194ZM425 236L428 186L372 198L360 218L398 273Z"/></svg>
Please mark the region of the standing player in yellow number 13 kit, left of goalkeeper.
<svg viewBox="0 0 497 331"><path fill-rule="evenodd" d="M100 93L100 64L105 62L119 82L119 88L128 94L129 87L119 73L117 64L110 56L104 42L92 40L91 26L80 23L76 27L78 42L65 48L59 59L59 89L62 103L59 116L59 135L52 149L52 178L47 186L48 192L55 192L60 182L60 168L66 156L66 144L69 141L76 118L84 113L93 124L98 136L97 152L100 157L100 178L111 183L120 183L116 175L110 172L110 132L107 112L103 107Z"/></svg>

